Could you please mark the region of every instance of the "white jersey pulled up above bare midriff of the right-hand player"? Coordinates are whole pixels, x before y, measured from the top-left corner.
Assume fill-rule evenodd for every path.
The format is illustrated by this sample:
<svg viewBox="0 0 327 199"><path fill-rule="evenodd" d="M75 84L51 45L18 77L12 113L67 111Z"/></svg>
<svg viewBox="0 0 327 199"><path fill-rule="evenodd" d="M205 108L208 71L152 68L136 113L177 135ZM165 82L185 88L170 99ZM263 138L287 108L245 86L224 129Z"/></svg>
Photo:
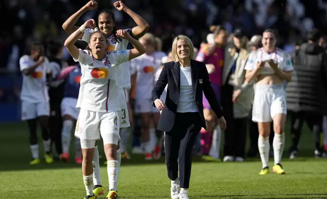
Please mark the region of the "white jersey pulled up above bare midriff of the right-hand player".
<svg viewBox="0 0 327 199"><path fill-rule="evenodd" d="M253 71L258 61L267 61L273 59L278 63L278 68L282 71L292 71L293 64L290 56L284 50L277 48L273 53L265 52L264 48L259 48L249 54L249 58L245 64L245 70ZM270 67L269 63L265 63L260 74L274 74L275 71Z"/></svg>

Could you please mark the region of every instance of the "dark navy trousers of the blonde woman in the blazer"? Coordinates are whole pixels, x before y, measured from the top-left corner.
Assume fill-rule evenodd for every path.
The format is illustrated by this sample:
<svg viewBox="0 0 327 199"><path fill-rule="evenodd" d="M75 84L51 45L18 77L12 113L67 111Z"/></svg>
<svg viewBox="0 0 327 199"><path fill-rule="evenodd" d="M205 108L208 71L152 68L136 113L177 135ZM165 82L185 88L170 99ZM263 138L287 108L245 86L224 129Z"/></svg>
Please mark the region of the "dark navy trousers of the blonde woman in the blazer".
<svg viewBox="0 0 327 199"><path fill-rule="evenodd" d="M201 130L201 117L196 113L177 113L171 131L165 132L165 153L168 177L178 178L181 188L189 187L192 149Z"/></svg>

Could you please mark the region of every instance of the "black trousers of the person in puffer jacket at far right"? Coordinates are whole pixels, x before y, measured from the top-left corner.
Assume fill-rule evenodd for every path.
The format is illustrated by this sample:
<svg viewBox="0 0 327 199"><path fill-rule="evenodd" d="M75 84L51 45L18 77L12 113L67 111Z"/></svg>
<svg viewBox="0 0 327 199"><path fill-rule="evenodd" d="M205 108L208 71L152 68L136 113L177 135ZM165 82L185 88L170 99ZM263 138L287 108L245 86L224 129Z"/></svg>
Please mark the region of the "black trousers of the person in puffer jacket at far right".
<svg viewBox="0 0 327 199"><path fill-rule="evenodd" d="M291 118L292 146L290 151L298 151L303 123L306 121L315 138L315 149L322 152L322 120L323 116L312 112L289 112Z"/></svg>

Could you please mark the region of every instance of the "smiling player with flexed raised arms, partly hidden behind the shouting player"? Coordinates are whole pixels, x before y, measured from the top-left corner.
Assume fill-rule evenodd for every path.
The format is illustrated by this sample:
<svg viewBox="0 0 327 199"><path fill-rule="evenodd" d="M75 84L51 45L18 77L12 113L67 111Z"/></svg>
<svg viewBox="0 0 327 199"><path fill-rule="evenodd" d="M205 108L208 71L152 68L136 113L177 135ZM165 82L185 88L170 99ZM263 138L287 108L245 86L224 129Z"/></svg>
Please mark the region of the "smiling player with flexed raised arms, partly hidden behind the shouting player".
<svg viewBox="0 0 327 199"><path fill-rule="evenodd" d="M119 11L124 11L127 13L130 17L134 19L137 26L133 27L132 29L126 29L126 31L129 33L130 36L134 38L140 38L142 37L145 32L149 28L149 24L138 14L127 8L121 1L115 2L114 7ZM75 26L77 20L82 16L83 13L85 13L88 10L93 10L97 8L97 3L93 0L89 1L85 6L83 6L79 11L77 11L75 14L73 14L71 17L69 17L63 24L62 28L68 32L68 34L72 34L75 30L77 30L79 27ZM115 16L113 12L110 10L103 10L100 12L98 16L98 27L97 28L89 28L86 29L83 35L81 35L78 39L82 39L85 42L89 42L90 35L92 32L100 30L102 31L107 38L107 49L108 50L126 50L128 41L124 40L122 38L117 38L116 34L116 28L115 28ZM128 113L126 98L125 98L125 92L122 87L130 87L130 73L129 73L129 63L124 62L119 67L120 70L120 76L121 81L118 82L118 86L120 87L119 96L121 98L120 100L120 107L121 107L121 125L122 128L121 131L128 130L127 127L130 126L129 124L129 115L132 116L132 113ZM127 72L127 73L126 73ZM124 75L125 74L125 75ZM124 75L124 76L122 76ZM123 129L125 128L125 129ZM127 133L121 132L121 135L128 135ZM117 158L120 165L120 159L121 156L124 156L125 154L121 154L118 144L118 150L117 150ZM101 177L100 177L100 165L99 165L99 152L97 151L97 147L95 147L95 153L94 153L94 194L97 196L98 194L103 192L103 188L101 185Z"/></svg>

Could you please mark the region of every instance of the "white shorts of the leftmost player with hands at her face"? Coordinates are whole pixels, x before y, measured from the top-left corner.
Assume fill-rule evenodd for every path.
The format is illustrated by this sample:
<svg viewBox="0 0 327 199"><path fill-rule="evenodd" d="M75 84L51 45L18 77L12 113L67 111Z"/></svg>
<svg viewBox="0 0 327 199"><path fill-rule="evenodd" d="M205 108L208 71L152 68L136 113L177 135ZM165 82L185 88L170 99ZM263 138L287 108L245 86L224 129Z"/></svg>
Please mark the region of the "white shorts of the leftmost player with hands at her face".
<svg viewBox="0 0 327 199"><path fill-rule="evenodd" d="M49 102L32 103L27 101L21 102L21 119L29 120L35 119L39 116L49 116L50 105Z"/></svg>

